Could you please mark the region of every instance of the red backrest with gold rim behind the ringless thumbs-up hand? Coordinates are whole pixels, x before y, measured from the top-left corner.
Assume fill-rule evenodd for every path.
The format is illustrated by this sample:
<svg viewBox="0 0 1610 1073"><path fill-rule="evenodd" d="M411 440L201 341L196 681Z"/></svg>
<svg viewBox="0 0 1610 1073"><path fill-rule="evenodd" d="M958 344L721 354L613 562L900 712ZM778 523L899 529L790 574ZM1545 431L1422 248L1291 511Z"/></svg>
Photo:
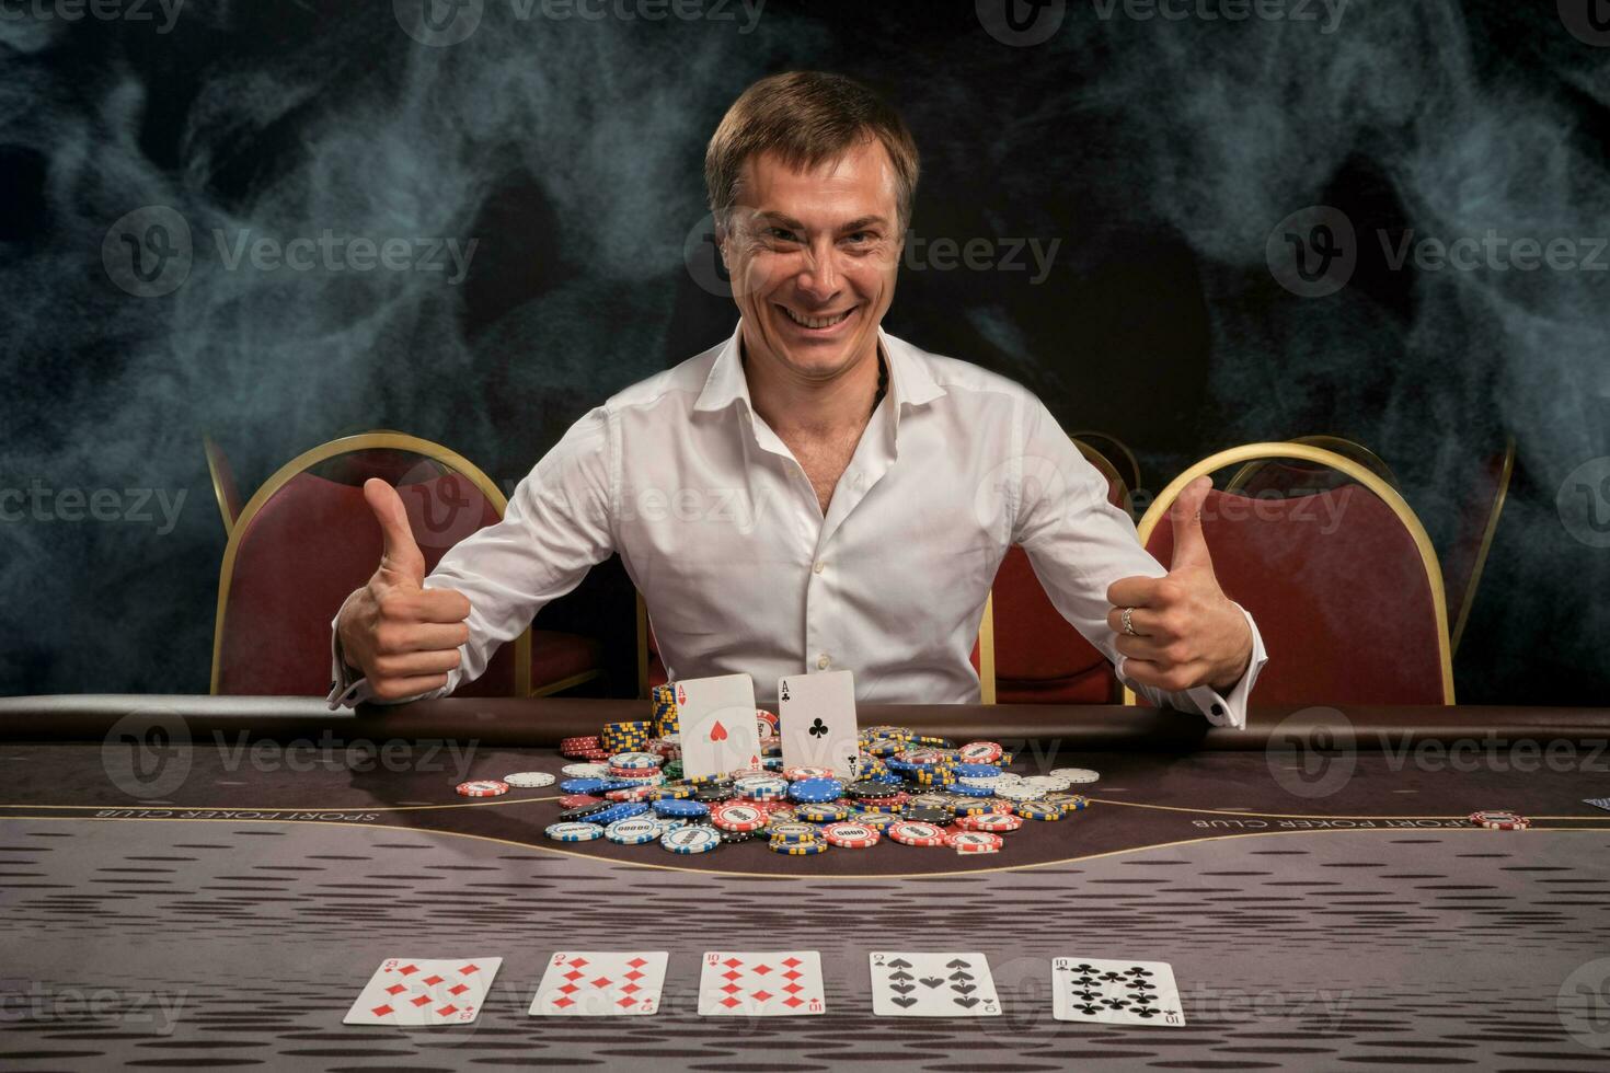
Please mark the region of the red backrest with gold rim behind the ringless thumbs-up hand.
<svg viewBox="0 0 1610 1073"><path fill-rule="evenodd" d="M374 455L374 452L383 452ZM224 549L213 692L322 697L330 689L330 619L380 561L380 526L364 500L361 468L349 481L320 476L335 458L415 460L382 467L398 481L414 537L431 569L449 547L497 521L504 495L467 458L414 436L367 433L330 441L283 465L242 510ZM443 471L446 468L446 471ZM464 697L523 697L530 631L504 645Z"/></svg>

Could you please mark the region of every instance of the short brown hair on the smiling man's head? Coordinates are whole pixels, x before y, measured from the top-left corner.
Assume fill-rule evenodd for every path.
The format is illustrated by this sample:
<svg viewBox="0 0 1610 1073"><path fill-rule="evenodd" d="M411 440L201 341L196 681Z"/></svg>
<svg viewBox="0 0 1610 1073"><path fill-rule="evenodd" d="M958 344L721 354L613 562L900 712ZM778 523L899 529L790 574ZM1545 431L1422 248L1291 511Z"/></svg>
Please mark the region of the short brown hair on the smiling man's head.
<svg viewBox="0 0 1610 1073"><path fill-rule="evenodd" d="M795 171L808 171L877 138L895 169L900 233L911 225L918 153L900 114L855 79L824 71L787 71L760 79L721 117L705 150L705 190L716 224L726 225L737 203L744 162L776 153Z"/></svg>

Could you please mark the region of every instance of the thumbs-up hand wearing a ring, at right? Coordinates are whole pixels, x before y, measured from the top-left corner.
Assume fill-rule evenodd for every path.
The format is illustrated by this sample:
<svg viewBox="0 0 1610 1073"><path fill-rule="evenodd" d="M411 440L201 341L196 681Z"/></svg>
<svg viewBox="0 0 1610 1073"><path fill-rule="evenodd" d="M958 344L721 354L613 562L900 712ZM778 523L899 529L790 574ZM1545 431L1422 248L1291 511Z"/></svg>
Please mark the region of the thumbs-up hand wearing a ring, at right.
<svg viewBox="0 0 1610 1073"><path fill-rule="evenodd" d="M1201 508L1211 489L1212 478L1201 476L1174 500L1174 568L1166 576L1122 578L1108 586L1108 627L1127 656L1124 674L1143 685L1227 690L1253 658L1253 631L1219 587L1203 537ZM1124 629L1125 608L1133 635Z"/></svg>

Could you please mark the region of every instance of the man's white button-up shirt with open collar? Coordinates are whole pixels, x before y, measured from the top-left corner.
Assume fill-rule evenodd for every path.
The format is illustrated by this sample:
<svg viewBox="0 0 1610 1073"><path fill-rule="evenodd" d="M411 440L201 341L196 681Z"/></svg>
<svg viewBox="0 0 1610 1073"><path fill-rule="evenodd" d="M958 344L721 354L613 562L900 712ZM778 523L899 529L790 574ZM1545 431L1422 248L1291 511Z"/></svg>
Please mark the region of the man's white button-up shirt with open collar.
<svg viewBox="0 0 1610 1073"><path fill-rule="evenodd" d="M1106 589L1167 571L1045 404L879 328L889 388L823 516L805 470L755 413L741 330L586 413L520 481L502 521L441 558L425 587L469 597L470 639L431 697L480 676L612 552L673 680L747 672L768 706L778 679L802 669L853 671L865 703L979 703L972 643L1013 544L1124 677ZM1253 661L1228 697L1124 680L1241 727L1265 661L1248 624ZM335 679L332 706L369 697L340 658Z"/></svg>

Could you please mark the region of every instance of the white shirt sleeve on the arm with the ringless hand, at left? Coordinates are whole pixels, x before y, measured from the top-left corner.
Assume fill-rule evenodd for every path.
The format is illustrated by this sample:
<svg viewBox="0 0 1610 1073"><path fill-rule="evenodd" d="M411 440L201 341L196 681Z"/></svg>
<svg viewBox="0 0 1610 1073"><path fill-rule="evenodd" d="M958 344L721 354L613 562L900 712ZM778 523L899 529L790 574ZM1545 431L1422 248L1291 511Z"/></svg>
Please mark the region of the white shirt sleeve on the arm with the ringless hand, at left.
<svg viewBox="0 0 1610 1073"><path fill-rule="evenodd" d="M575 589L588 569L615 552L613 457L609 415L597 407L515 486L501 521L441 557L425 587L452 589L469 598L470 637L444 687L404 700L444 697L478 679L499 645L518 637L544 605ZM346 669L338 639L330 655L330 706L374 700L367 680L353 679Z"/></svg>

